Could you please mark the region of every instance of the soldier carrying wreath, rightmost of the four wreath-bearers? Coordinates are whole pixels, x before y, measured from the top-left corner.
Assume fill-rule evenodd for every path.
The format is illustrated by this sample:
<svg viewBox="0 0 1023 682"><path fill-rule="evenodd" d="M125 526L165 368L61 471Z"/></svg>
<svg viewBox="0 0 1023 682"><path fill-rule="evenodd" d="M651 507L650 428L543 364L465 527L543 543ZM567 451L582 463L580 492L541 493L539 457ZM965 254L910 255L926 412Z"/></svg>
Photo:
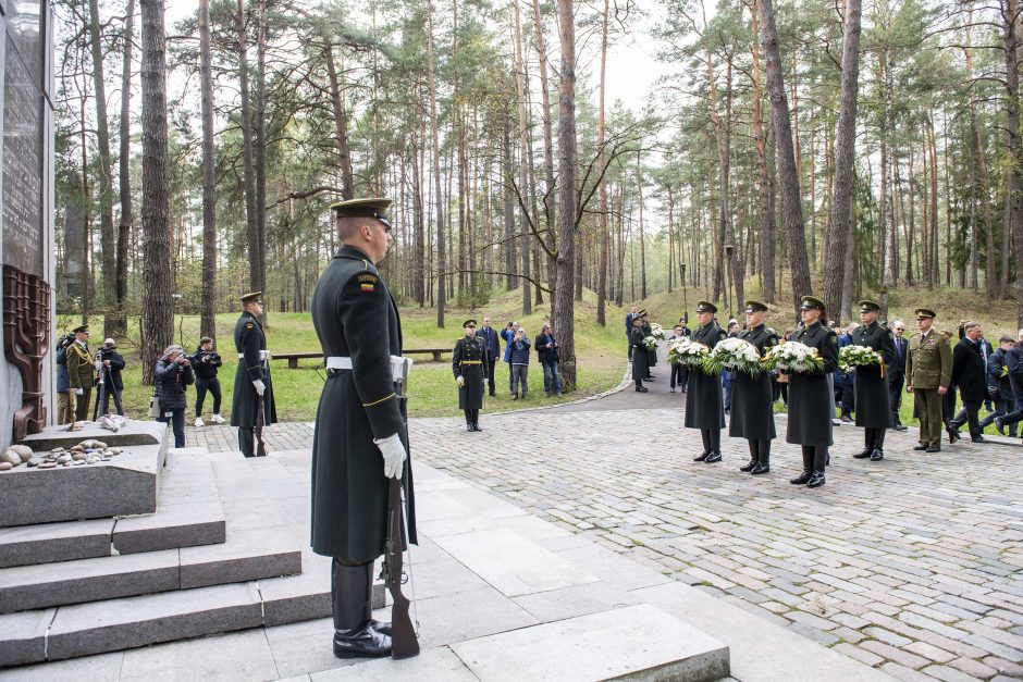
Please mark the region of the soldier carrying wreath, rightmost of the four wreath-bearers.
<svg viewBox="0 0 1023 682"><path fill-rule="evenodd" d="M872 300L861 300L860 326L852 333L852 343L876 350L883 364L858 367L855 381L856 426L863 426L863 451L855 459L885 458L885 432L891 426L891 404L888 397L888 365L896 358L895 334L886 324L877 322L880 306Z"/></svg>

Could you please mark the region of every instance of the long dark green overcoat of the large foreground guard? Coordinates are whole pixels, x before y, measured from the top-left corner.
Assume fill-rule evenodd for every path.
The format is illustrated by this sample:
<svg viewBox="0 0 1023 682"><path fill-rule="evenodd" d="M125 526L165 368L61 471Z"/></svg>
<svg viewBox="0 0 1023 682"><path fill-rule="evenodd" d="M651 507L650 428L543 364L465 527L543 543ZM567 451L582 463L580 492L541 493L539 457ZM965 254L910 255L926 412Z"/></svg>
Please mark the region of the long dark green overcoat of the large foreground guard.
<svg viewBox="0 0 1023 682"><path fill-rule="evenodd" d="M387 478L373 438L400 435L408 447L404 401L395 393L391 356L402 355L402 323L386 283L368 256L345 246L320 275L312 324L323 356L352 358L328 370L312 436L312 550L366 562L384 551ZM415 381L410 377L411 381ZM411 461L402 484L409 542L416 544Z"/></svg>

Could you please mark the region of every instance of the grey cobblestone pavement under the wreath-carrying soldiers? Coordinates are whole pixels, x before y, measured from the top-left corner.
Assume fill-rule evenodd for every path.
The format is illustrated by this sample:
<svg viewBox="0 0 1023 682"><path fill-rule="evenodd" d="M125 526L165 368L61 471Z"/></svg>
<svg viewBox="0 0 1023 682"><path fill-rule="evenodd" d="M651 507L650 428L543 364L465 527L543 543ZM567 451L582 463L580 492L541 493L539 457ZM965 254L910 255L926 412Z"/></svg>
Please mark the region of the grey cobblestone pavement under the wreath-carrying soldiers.
<svg viewBox="0 0 1023 682"><path fill-rule="evenodd" d="M665 388L666 390L666 388ZM851 459L836 429L827 484L788 479L796 446L750 476L745 443L692 461L681 409L484 416L411 424L414 457L593 537L665 574L905 679L1023 678L1023 451L957 444L924 456L889 432L882 462ZM309 447L311 424L268 443ZM189 427L189 445L234 449L233 430ZM296 445L297 444L297 445Z"/></svg>

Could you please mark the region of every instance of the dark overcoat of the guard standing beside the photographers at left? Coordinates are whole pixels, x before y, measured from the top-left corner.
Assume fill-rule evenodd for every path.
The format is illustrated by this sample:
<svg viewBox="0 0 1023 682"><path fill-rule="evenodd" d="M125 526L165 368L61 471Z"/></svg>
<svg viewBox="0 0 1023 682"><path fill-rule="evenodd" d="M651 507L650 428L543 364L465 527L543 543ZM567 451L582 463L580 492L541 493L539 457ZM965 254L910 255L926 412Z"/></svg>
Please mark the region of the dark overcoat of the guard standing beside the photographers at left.
<svg viewBox="0 0 1023 682"><path fill-rule="evenodd" d="M256 406L258 405L256 386L252 382L261 380L267 386L263 390L263 421L272 424L278 421L278 408L273 404L273 382L270 381L270 363L259 358L260 350L267 350L267 335L259 320L243 312L234 323L234 348L238 352L238 369L234 372L234 398L231 400L231 425L252 429L256 425Z"/></svg>

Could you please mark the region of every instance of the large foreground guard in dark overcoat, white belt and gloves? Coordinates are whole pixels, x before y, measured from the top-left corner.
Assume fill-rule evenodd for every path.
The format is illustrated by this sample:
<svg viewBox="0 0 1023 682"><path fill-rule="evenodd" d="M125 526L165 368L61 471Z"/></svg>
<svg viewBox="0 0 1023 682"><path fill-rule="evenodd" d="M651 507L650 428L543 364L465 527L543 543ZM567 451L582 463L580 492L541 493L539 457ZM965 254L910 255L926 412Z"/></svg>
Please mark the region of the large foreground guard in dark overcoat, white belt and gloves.
<svg viewBox="0 0 1023 682"><path fill-rule="evenodd" d="M375 263L391 245L390 199L334 204L343 246L312 295L326 381L312 438L312 550L333 558L334 654L387 656L390 624L372 619L373 561L387 538L389 479L405 488L416 544L406 410L395 384L397 306ZM400 370L398 370L400 371Z"/></svg>

